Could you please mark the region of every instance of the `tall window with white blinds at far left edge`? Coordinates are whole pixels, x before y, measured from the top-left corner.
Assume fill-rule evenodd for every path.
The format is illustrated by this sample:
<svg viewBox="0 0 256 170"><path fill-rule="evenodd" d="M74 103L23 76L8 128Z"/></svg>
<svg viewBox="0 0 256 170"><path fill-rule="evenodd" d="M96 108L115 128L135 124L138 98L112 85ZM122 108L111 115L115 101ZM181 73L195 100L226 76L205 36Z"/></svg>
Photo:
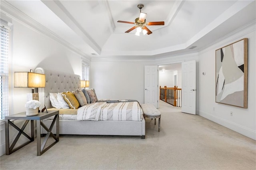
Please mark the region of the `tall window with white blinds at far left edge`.
<svg viewBox="0 0 256 170"><path fill-rule="evenodd" d="M1 37L1 57L0 57L0 111L3 120L9 113L8 104L8 81L9 81L9 56L10 56L10 27L8 22L0 19L0 37Z"/></svg>

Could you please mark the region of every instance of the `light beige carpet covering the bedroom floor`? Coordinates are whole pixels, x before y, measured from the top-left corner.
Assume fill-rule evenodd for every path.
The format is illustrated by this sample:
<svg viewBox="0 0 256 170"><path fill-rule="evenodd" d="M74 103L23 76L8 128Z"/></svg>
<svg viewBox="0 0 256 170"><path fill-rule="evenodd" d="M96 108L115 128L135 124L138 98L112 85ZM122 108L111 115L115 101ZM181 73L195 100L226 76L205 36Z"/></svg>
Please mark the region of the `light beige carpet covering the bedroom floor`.
<svg viewBox="0 0 256 170"><path fill-rule="evenodd" d="M256 141L160 101L158 121L146 119L138 136L61 135L36 156L36 140L0 157L0 169L255 170Z"/></svg>

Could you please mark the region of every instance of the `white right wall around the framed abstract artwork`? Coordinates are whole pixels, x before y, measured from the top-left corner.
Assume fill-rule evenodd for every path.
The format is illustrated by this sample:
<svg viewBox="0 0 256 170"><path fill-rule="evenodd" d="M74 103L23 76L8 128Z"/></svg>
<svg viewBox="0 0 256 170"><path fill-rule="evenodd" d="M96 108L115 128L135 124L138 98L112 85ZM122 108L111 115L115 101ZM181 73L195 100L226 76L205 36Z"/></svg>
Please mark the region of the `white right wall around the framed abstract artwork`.
<svg viewBox="0 0 256 170"><path fill-rule="evenodd" d="M215 103L215 50L248 38L248 109ZM198 113L220 125L256 140L256 33L255 23L215 43L199 55ZM205 72L206 75L202 75ZM233 116L230 116L230 111Z"/></svg>

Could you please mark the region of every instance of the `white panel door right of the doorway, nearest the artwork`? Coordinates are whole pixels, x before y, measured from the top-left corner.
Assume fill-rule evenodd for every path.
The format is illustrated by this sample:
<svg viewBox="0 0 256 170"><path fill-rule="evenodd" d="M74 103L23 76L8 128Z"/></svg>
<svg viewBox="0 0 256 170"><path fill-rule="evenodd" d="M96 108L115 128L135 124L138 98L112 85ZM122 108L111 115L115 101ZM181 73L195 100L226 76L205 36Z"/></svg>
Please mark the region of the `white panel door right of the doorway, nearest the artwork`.
<svg viewBox="0 0 256 170"><path fill-rule="evenodd" d="M182 68L181 111L196 115L196 61L186 61Z"/></svg>

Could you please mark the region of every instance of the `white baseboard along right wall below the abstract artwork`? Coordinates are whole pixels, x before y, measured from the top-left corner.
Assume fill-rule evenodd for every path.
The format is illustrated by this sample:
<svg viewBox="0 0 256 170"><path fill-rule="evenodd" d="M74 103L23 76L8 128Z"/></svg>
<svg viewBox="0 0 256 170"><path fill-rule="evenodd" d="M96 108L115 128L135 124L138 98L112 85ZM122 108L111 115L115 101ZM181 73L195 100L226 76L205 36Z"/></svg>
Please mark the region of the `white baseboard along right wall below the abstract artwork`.
<svg viewBox="0 0 256 170"><path fill-rule="evenodd" d="M209 113L206 113L204 111L201 111L201 110L198 110L198 115L206 118L206 119L209 119L210 121L213 121L215 123L218 123L226 128L229 128L231 130L234 130L235 132L238 132L244 136L247 136L249 138L252 138L254 140L256 140L256 131L250 129L250 128L246 128L246 127L243 127L241 125L238 125L236 123L233 123L233 122L230 122L230 121L227 121L225 119L222 119L220 117L216 117L214 115L211 115Z"/></svg>

